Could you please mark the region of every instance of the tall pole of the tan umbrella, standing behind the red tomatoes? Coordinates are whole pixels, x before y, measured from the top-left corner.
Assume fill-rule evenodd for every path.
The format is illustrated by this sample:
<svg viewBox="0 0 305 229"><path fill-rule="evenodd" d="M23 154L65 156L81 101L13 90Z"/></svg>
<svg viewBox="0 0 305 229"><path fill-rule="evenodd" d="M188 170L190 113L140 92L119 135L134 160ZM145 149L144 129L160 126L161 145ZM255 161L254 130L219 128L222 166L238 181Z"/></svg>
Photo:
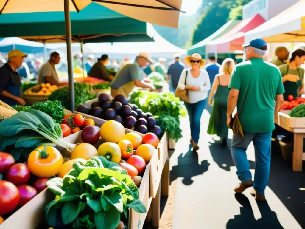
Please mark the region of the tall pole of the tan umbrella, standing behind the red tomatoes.
<svg viewBox="0 0 305 229"><path fill-rule="evenodd" d="M73 59L72 59L72 35L71 35L71 21L70 21L70 6L69 0L63 1L65 10L65 29L66 29L66 44L67 44L67 62L68 62L68 78L69 78L69 92L71 100L71 111L74 111L74 79L73 79Z"/></svg>

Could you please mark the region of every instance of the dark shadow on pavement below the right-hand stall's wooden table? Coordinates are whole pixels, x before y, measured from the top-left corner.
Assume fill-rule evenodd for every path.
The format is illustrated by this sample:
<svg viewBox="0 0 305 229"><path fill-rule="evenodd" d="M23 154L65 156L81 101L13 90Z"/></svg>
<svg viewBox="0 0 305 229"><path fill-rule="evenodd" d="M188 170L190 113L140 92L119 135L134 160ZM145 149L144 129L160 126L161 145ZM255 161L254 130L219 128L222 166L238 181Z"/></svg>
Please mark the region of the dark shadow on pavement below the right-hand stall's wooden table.
<svg viewBox="0 0 305 229"><path fill-rule="evenodd" d="M272 152L268 186L292 216L305 228L305 162L303 172L292 171L292 162L283 160L280 152ZM267 199L268 200L268 199Z"/></svg>

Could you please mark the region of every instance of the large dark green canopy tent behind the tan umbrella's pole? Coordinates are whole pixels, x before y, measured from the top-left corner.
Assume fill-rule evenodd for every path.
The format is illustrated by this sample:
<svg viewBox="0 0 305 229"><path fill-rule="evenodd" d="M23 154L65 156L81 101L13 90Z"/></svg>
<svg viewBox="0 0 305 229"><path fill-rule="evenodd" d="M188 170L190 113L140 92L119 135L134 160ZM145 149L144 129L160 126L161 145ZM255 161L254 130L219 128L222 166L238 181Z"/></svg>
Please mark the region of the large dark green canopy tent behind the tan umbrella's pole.
<svg viewBox="0 0 305 229"><path fill-rule="evenodd" d="M124 16L96 3L70 12L72 42L154 41L151 24ZM0 17L1 37L64 42L64 12L11 13Z"/></svg>

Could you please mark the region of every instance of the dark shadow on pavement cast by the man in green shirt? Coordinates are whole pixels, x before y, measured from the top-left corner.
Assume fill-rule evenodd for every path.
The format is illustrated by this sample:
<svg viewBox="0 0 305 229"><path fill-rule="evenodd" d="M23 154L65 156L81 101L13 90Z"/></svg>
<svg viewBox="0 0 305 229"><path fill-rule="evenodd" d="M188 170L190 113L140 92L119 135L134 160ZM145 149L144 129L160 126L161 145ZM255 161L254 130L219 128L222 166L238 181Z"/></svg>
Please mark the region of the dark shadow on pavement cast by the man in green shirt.
<svg viewBox="0 0 305 229"><path fill-rule="evenodd" d="M236 200L242 205L240 207L240 215L234 216L234 219L230 219L227 223L227 229L237 228L272 228L272 229L284 229L275 212L271 211L267 202L257 202L257 206L260 210L261 218L256 220L254 218L253 210L249 199L242 193L235 193Z"/></svg>

